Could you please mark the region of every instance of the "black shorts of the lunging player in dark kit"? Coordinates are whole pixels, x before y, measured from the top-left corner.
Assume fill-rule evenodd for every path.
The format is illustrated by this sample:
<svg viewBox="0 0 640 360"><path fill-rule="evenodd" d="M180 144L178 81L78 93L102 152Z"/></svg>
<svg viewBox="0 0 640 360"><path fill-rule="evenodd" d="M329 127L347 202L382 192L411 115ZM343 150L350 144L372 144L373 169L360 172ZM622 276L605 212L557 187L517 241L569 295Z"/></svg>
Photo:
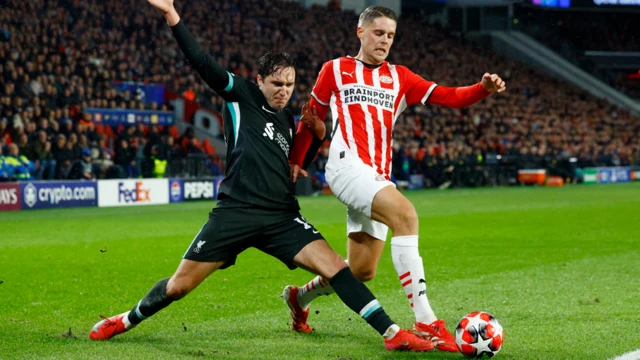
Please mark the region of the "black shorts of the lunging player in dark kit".
<svg viewBox="0 0 640 360"><path fill-rule="evenodd" d="M235 264L238 254L254 247L293 270L293 257L315 240L324 238L297 211L216 207L183 258L224 261L220 267L224 269Z"/></svg>

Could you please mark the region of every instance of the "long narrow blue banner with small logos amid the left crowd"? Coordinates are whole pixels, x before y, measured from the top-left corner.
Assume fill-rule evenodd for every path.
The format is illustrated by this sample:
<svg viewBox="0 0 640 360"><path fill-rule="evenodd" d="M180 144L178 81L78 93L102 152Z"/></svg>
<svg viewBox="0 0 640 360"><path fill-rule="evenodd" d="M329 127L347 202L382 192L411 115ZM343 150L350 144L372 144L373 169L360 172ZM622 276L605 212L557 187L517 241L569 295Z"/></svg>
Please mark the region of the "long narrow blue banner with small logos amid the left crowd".
<svg viewBox="0 0 640 360"><path fill-rule="evenodd" d="M107 108L86 108L90 115L88 120L104 125L173 125L174 115L171 111L128 110Z"/></svg>

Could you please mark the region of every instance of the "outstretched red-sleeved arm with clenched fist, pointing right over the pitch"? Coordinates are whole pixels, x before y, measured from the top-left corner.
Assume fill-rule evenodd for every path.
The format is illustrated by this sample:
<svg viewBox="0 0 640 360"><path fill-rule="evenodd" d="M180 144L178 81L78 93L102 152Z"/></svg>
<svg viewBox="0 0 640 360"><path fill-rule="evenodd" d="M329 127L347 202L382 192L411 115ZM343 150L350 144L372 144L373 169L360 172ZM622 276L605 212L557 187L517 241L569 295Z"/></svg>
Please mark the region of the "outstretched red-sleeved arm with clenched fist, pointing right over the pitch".
<svg viewBox="0 0 640 360"><path fill-rule="evenodd" d="M435 104L449 108L464 108L477 103L494 92L506 90L504 81L496 74L484 74L481 82L462 87L438 86L408 69L405 76L405 84L409 87L407 90L407 105Z"/></svg>

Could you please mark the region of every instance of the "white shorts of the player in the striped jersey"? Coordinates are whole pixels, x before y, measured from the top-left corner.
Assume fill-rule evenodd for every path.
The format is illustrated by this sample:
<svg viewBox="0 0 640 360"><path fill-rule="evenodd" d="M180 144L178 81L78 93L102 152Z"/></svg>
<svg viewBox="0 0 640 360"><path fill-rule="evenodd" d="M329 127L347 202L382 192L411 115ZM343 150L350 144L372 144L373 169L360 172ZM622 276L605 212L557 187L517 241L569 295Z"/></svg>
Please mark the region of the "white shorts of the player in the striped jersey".
<svg viewBox="0 0 640 360"><path fill-rule="evenodd" d="M380 190L390 185L395 187L395 184L360 159L346 154L344 158L333 161L329 157L326 179L331 191L347 205L347 236L365 232L386 241L389 227L371 219L371 205Z"/></svg>

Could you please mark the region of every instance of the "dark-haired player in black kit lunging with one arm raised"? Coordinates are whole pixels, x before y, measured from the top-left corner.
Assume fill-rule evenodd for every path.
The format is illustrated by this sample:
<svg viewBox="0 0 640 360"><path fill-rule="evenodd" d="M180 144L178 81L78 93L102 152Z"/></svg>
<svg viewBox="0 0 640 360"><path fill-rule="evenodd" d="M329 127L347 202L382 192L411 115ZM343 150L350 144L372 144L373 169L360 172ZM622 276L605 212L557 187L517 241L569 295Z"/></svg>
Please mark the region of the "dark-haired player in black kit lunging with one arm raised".
<svg viewBox="0 0 640 360"><path fill-rule="evenodd" d="M185 297L214 271L233 265L239 253L255 247L290 269L302 267L328 279L343 302L383 336L388 350L433 350L430 340L400 329L389 318L344 259L300 215L298 201L291 192L288 160L295 123L284 110L296 76L291 56L281 52L262 56L258 61L258 85L253 84L228 73L200 49L180 20L173 0L148 2L164 14L191 66L226 101L223 118L227 176L220 186L217 206L173 276L158 281L130 311L103 317L89 337L108 340L132 329ZM310 115L308 109L303 111L303 116ZM321 135L318 138L324 138ZM320 139L316 140L320 143Z"/></svg>

